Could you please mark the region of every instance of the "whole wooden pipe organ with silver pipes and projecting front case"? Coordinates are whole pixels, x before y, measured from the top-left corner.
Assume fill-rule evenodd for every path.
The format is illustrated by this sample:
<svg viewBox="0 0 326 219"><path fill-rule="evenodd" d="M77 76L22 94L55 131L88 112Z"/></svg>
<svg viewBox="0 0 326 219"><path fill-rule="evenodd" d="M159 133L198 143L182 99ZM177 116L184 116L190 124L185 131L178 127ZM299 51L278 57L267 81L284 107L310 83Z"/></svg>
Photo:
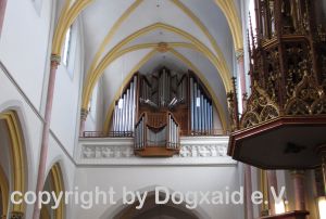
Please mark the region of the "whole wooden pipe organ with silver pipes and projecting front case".
<svg viewBox="0 0 326 219"><path fill-rule="evenodd" d="M136 73L116 101L112 129L117 137L133 131L139 156L173 156L180 136L212 133L212 99L191 70Z"/></svg>

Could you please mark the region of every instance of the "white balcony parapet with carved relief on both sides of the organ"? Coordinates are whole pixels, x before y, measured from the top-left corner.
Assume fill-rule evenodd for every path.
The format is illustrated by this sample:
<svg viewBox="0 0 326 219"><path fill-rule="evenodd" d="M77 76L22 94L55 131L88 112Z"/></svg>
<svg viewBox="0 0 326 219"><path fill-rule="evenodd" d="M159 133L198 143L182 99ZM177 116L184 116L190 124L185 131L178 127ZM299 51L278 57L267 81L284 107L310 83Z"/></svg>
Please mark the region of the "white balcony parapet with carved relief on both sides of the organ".
<svg viewBox="0 0 326 219"><path fill-rule="evenodd" d="M80 138L82 165L235 165L227 156L228 137L181 137L180 153L167 158L134 155L134 138Z"/></svg>

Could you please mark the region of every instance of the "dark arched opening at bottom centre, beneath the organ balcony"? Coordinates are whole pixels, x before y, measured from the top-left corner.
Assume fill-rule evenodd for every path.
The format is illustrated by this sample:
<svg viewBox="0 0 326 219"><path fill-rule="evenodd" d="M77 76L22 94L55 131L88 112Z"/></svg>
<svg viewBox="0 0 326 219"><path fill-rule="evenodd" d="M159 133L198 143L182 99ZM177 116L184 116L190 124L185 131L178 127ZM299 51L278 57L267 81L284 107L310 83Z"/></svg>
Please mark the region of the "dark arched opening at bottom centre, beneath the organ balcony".
<svg viewBox="0 0 326 219"><path fill-rule="evenodd" d="M160 199L165 198L165 193L159 194ZM149 192L141 209L133 205L126 206L113 219L199 219L196 212L186 207L186 203L174 204L171 199L164 205L155 204L155 193Z"/></svg>

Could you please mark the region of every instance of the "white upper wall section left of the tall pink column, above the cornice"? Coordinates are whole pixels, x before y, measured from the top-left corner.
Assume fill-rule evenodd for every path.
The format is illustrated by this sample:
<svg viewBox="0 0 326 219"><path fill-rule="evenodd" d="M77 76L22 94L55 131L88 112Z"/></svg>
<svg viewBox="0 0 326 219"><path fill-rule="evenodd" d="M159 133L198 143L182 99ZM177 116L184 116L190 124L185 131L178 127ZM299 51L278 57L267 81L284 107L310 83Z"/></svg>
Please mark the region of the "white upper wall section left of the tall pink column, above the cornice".
<svg viewBox="0 0 326 219"><path fill-rule="evenodd" d="M45 1L40 16L32 1L10 0L0 41L0 59L14 79L40 108L50 33L51 1Z"/></svg>

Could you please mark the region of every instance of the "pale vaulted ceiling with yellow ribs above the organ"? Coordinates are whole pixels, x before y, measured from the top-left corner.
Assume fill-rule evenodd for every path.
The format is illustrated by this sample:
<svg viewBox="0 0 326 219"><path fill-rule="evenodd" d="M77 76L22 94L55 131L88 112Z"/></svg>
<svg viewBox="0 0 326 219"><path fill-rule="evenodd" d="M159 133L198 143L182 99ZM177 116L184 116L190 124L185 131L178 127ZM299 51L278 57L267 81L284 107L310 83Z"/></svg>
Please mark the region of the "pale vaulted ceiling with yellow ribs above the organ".
<svg viewBox="0 0 326 219"><path fill-rule="evenodd" d="M102 80L104 117L133 73L147 74L162 65L192 69L212 92L220 114L226 113L226 91L236 70L235 43L230 17L217 1L224 2L96 0L83 11L85 87L91 93ZM238 3L231 4L236 15Z"/></svg>

